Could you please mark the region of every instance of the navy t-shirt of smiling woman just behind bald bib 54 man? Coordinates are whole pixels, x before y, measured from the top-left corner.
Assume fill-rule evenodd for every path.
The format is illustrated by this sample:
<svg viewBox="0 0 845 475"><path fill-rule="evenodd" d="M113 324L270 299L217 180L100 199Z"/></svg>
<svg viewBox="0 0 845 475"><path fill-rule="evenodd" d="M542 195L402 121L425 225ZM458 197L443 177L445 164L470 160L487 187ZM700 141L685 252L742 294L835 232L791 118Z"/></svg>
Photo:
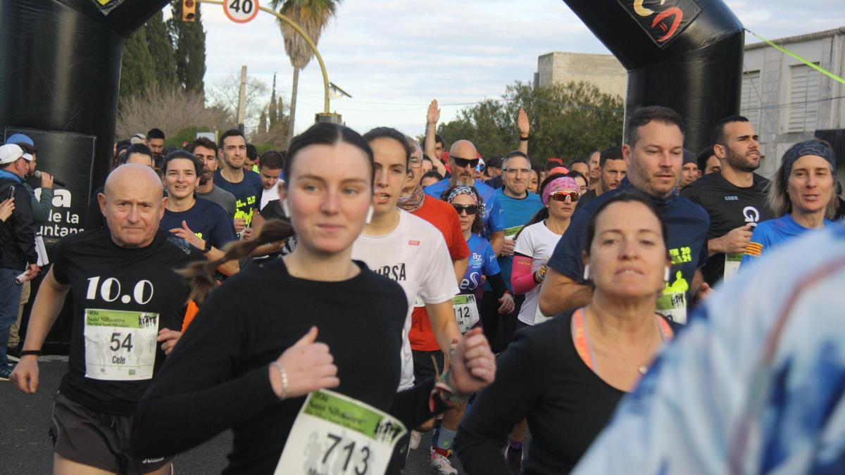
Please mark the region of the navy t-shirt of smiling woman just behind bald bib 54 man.
<svg viewBox="0 0 845 475"><path fill-rule="evenodd" d="M223 248L226 243L237 240L232 218L220 205L207 199L197 198L197 203L190 210L164 210L159 229L170 232L173 228L182 227L182 221L188 223L198 238L210 241L215 248Z"/></svg>

